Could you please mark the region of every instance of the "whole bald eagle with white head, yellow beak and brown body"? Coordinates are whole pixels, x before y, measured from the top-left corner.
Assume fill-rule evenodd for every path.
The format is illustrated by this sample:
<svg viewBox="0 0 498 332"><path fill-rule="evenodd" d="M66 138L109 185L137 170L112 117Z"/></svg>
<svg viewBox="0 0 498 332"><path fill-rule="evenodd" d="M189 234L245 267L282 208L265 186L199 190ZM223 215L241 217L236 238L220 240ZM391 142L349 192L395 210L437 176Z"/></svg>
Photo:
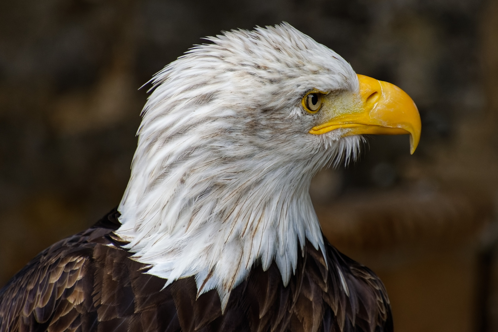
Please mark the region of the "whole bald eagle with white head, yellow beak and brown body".
<svg viewBox="0 0 498 332"><path fill-rule="evenodd" d="M392 331L308 191L362 134L413 153L415 104L287 23L207 39L151 80L119 207L2 288L0 332Z"/></svg>

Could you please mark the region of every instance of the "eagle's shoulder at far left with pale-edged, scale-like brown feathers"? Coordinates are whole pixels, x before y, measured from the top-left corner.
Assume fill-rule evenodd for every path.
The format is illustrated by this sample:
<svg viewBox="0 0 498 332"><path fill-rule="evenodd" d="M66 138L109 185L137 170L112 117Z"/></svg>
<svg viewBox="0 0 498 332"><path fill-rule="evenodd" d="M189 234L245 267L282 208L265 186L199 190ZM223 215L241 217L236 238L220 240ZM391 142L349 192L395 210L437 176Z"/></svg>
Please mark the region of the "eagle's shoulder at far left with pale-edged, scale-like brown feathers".
<svg viewBox="0 0 498 332"><path fill-rule="evenodd" d="M51 245L10 279L0 290L0 332L92 330L94 248L118 227L116 213Z"/></svg>

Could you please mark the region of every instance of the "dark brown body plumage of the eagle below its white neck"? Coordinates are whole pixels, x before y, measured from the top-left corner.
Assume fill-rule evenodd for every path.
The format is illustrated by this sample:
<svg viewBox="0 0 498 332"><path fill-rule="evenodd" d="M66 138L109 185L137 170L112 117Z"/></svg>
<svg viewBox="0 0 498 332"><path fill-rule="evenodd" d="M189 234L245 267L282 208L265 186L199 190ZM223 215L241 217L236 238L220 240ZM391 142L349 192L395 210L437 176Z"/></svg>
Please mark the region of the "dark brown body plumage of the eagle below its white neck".
<svg viewBox="0 0 498 332"><path fill-rule="evenodd" d="M391 332L382 282L327 243L309 243L284 287L276 264L253 266L222 314L216 290L197 298L193 277L144 274L112 231L111 212L41 252L0 291L0 332Z"/></svg>

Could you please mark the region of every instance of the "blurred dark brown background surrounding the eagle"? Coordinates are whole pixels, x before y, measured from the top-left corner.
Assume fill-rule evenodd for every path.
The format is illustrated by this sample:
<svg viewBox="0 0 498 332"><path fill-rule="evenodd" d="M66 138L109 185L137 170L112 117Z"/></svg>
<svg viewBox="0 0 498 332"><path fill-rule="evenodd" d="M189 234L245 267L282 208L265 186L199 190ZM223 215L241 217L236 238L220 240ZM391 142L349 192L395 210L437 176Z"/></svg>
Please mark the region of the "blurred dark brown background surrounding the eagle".
<svg viewBox="0 0 498 332"><path fill-rule="evenodd" d="M0 285L121 200L146 89L221 30L287 21L417 104L317 175L324 232L371 267L397 332L498 331L498 0L0 1Z"/></svg>

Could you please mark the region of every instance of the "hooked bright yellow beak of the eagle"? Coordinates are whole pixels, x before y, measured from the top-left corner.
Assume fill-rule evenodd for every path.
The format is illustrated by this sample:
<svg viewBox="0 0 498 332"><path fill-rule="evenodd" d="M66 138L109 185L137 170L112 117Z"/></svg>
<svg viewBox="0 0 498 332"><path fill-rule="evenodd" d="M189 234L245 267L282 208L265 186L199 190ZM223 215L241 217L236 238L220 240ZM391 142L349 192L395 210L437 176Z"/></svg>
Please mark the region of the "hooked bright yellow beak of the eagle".
<svg viewBox="0 0 498 332"><path fill-rule="evenodd" d="M313 127L310 134L347 128L345 136L359 134L410 134L410 153L420 140L420 114L413 100L393 84L358 75L360 110L344 113Z"/></svg>

